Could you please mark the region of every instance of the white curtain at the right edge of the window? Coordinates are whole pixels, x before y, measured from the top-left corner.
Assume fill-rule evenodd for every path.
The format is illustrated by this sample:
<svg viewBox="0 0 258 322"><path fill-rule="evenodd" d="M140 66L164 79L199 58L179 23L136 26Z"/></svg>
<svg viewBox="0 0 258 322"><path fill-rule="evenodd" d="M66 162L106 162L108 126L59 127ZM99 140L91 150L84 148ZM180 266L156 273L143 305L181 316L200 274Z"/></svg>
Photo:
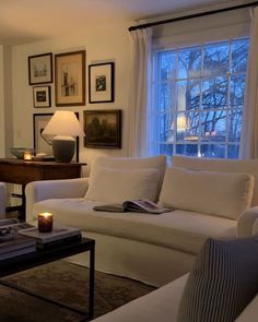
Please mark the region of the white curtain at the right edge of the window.
<svg viewBox="0 0 258 322"><path fill-rule="evenodd" d="M239 158L258 158L258 7L250 10L250 48Z"/></svg>

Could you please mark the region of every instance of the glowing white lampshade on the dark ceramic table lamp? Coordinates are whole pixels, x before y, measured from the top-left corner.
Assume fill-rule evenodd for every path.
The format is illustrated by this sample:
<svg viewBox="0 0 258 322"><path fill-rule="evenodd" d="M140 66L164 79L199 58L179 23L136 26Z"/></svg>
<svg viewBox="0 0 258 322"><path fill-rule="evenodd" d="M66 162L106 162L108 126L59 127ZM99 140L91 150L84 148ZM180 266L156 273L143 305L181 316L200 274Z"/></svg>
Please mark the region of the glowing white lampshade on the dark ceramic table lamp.
<svg viewBox="0 0 258 322"><path fill-rule="evenodd" d="M79 136L84 135L84 132L73 111L58 110L47 123L43 134Z"/></svg>

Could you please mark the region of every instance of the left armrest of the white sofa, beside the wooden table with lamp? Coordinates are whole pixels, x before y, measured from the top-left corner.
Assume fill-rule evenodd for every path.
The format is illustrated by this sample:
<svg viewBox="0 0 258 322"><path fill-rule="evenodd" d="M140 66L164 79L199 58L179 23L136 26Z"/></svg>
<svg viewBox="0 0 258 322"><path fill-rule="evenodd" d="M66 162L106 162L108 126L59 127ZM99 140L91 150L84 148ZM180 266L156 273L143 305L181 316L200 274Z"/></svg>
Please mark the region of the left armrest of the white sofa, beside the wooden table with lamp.
<svg viewBox="0 0 258 322"><path fill-rule="evenodd" d="M26 219L33 214L34 203L46 199L83 198L87 187L89 178L30 182L25 188Z"/></svg>

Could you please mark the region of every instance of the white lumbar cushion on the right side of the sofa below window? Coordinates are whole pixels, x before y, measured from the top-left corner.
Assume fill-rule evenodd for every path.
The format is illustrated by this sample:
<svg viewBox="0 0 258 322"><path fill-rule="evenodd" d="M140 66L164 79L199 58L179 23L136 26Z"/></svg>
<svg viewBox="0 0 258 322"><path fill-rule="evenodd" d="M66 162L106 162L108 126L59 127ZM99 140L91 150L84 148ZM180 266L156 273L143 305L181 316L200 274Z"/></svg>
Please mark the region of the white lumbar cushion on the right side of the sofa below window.
<svg viewBox="0 0 258 322"><path fill-rule="evenodd" d="M179 210L237 219L250 206L254 177L246 174L166 170L160 203Z"/></svg>

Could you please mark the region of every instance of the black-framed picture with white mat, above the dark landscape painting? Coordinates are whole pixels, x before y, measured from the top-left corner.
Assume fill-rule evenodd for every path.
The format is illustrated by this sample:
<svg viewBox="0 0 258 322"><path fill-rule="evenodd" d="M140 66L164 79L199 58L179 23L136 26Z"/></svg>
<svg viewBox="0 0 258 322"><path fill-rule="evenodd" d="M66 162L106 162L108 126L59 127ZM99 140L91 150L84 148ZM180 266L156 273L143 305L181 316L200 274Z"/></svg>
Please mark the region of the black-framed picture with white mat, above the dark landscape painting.
<svg viewBox="0 0 258 322"><path fill-rule="evenodd" d="M89 100L90 103L108 103L115 99L115 63L97 63L89 65Z"/></svg>

